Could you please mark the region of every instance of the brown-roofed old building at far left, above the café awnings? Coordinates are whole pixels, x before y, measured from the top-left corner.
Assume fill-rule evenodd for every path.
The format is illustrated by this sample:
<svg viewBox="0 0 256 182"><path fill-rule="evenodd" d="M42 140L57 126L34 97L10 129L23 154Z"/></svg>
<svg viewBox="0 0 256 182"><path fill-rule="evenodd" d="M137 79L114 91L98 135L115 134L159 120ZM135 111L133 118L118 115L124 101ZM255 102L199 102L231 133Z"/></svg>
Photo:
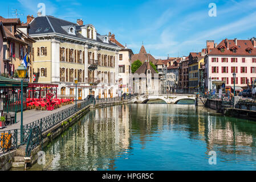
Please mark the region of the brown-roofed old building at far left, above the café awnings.
<svg viewBox="0 0 256 182"><path fill-rule="evenodd" d="M1 65L1 73L6 77L17 77L15 70L22 63L23 58L30 55L32 43L35 42L28 34L29 27L22 24L19 18L3 18L2 22L3 36L3 61ZM29 60L27 65L26 81L32 82L32 63Z"/></svg>

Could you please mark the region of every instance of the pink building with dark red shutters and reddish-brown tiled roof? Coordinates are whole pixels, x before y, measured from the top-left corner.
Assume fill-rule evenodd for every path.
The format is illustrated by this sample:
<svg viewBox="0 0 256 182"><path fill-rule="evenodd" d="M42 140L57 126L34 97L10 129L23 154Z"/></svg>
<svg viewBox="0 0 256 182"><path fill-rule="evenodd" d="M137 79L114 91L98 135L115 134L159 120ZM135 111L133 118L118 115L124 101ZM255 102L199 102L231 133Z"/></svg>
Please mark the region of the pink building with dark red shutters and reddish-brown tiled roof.
<svg viewBox="0 0 256 182"><path fill-rule="evenodd" d="M247 88L256 77L256 39L222 40L205 56L205 69L207 88L211 77L225 81L226 88L233 90L233 72L236 73L235 85Z"/></svg>

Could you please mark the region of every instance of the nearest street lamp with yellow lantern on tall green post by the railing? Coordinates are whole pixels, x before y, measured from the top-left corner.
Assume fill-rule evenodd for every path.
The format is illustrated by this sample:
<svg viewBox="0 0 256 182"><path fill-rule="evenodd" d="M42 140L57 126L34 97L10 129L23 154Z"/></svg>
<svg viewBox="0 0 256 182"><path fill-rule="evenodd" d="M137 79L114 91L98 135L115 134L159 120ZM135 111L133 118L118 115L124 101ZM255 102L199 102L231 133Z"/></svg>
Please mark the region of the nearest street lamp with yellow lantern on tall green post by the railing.
<svg viewBox="0 0 256 182"><path fill-rule="evenodd" d="M21 143L23 143L23 80L26 76L27 69L22 64L17 68L18 76L21 78Z"/></svg>

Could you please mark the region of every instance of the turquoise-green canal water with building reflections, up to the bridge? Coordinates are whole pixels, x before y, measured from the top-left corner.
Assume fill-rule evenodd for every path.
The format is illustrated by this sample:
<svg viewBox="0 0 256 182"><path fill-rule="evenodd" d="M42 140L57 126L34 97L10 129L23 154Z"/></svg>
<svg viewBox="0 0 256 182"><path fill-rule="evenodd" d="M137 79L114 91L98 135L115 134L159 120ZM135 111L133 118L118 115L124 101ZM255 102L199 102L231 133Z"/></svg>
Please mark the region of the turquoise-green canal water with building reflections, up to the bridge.
<svg viewBox="0 0 256 182"><path fill-rule="evenodd" d="M111 106L86 114L31 169L255 170L255 137L256 122L194 105Z"/></svg>

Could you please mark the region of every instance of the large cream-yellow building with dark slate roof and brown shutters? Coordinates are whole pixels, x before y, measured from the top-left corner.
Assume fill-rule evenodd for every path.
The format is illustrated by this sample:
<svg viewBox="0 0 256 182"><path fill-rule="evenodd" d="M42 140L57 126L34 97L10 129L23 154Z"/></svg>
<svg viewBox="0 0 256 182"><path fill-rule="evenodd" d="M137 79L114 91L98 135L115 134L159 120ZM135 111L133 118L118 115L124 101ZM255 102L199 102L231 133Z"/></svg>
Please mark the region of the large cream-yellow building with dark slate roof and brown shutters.
<svg viewBox="0 0 256 182"><path fill-rule="evenodd" d="M36 82L59 84L59 97L117 96L118 56L121 49L100 35L92 24L38 16L30 23Z"/></svg>

